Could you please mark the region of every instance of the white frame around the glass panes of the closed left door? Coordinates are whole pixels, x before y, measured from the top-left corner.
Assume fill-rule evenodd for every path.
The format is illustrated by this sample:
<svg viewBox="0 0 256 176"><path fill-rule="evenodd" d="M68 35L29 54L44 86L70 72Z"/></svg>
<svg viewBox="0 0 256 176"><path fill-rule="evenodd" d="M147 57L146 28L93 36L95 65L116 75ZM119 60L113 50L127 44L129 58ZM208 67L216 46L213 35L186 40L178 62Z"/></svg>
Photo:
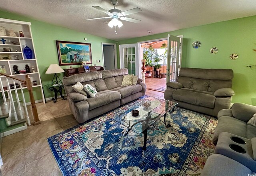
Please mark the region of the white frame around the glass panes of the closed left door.
<svg viewBox="0 0 256 176"><path fill-rule="evenodd" d="M125 47L134 47L135 46L135 71L136 75L138 75L139 78L141 78L141 71L140 71L140 57L139 57L139 44L122 44L125 45ZM137 50L136 50L136 47ZM124 54L122 53L121 45L119 45L119 59L120 59L120 68L124 68ZM122 57L121 57L122 56Z"/></svg>

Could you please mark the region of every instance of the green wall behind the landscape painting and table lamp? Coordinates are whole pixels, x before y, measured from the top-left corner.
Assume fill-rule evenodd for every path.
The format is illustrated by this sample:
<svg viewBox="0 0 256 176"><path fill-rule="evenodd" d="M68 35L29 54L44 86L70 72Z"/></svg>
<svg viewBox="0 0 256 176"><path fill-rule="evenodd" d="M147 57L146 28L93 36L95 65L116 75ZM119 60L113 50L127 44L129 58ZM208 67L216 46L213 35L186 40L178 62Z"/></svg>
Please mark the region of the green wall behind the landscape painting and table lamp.
<svg viewBox="0 0 256 176"><path fill-rule="evenodd" d="M54 96L54 93L48 90L47 87L45 87L46 84L51 83L53 75L47 75L45 74L45 72L50 64L58 64L58 54L55 42L56 40L90 43L92 48L92 65L96 63L96 60L100 60L101 65L103 63L101 45L102 42L116 43L116 41L113 40L109 40L106 38L94 36L83 32L77 32L75 30L63 28L45 22L40 22L38 20L33 20L25 16L20 16L18 14L13 14L5 11L0 11L0 18L31 22L31 30L38 61L38 67L40 75L42 77L42 85L44 86L46 98ZM87 38L88 40L84 41L84 38ZM100 64L96 63L96 65ZM64 69L68 68L69 66L61 67L62 69ZM80 67L80 65L72 65L72 67ZM59 73L58 76L62 78L64 76L64 73ZM26 93L26 95L26 97L29 97L28 93ZM34 88L34 97L36 100L42 99L40 89Z"/></svg>

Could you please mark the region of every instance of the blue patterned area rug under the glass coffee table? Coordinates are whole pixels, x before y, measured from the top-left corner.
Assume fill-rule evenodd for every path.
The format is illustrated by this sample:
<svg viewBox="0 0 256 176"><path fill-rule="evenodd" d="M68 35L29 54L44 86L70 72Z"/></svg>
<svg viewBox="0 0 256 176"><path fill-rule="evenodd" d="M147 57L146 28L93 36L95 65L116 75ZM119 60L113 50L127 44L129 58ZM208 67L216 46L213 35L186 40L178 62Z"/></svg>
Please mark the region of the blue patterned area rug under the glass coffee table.
<svg viewBox="0 0 256 176"><path fill-rule="evenodd" d="M144 96L145 97L145 96ZM144 98L142 97L142 98ZM217 120L175 107L166 128L157 121L144 134L130 131L110 117L132 110L132 101L88 123L48 138L64 176L195 176L214 152L212 135Z"/></svg>

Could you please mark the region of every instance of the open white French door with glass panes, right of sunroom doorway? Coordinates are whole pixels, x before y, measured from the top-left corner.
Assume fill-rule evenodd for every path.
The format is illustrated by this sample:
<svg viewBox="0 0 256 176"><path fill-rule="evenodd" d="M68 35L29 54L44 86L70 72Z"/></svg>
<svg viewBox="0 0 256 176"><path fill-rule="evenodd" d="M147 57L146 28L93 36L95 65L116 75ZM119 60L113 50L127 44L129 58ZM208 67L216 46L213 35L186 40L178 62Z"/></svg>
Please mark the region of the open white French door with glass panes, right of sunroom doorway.
<svg viewBox="0 0 256 176"><path fill-rule="evenodd" d="M181 65L182 38L168 35L166 83L176 81Z"/></svg>

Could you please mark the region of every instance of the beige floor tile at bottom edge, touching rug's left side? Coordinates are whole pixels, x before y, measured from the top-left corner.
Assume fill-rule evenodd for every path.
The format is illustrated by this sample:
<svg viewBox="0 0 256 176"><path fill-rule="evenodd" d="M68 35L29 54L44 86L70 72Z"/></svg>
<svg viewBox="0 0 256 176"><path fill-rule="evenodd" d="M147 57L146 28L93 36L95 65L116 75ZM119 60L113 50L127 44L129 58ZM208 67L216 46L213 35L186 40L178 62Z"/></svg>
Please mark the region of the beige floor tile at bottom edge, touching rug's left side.
<svg viewBox="0 0 256 176"><path fill-rule="evenodd" d="M26 176L62 176L52 153L26 165Z"/></svg>

